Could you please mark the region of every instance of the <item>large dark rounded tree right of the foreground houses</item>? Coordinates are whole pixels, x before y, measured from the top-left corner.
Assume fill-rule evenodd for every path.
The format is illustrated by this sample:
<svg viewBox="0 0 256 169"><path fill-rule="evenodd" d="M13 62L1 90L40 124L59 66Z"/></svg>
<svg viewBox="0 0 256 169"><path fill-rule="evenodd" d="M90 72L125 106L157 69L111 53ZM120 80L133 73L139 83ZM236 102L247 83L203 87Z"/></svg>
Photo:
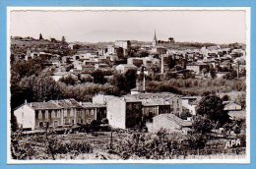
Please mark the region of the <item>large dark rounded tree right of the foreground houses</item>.
<svg viewBox="0 0 256 169"><path fill-rule="evenodd" d="M208 119L221 125L229 122L227 111L224 110L223 100L216 94L205 95L197 106L197 114L206 116Z"/></svg>

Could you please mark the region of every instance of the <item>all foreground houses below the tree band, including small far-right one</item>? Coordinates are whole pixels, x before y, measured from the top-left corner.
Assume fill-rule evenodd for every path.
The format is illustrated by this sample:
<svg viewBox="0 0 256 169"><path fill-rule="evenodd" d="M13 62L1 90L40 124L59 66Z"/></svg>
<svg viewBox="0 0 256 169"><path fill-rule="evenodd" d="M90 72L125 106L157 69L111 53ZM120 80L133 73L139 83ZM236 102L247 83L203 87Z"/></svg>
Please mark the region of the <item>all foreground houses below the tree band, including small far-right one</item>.
<svg viewBox="0 0 256 169"><path fill-rule="evenodd" d="M97 94L93 102L78 102L75 99L25 102L14 110L14 115L20 128L27 130L39 130L46 126L59 128L86 125L107 118L113 128L147 127L152 133L164 128L187 133L192 123L179 116L185 109L196 116L200 99L199 96L181 96L169 92L144 92L120 97ZM224 110L229 111L232 118L245 117L241 106L232 102L224 102L224 105Z"/></svg>

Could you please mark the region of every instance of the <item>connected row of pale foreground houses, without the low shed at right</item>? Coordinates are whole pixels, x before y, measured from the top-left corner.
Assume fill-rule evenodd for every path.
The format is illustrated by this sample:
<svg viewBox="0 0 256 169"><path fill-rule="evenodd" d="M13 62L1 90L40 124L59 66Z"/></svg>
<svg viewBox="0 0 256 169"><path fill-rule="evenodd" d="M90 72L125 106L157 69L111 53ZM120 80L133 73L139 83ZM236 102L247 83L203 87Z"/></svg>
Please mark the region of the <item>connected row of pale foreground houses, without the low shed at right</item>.
<svg viewBox="0 0 256 169"><path fill-rule="evenodd" d="M17 122L23 129L37 130L45 127L67 127L90 124L93 120L107 118L114 128L135 128L152 122L160 114L180 114L180 96L171 93L139 93L122 97L97 94L93 102L75 99L25 102L14 110Z"/></svg>

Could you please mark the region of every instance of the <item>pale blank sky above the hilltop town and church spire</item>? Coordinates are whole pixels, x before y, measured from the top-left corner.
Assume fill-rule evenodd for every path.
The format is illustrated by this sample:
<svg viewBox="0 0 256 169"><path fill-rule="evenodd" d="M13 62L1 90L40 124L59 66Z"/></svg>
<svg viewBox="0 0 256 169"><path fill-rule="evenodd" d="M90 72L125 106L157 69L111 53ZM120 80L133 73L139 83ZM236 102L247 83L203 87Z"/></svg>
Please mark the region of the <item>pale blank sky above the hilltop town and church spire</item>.
<svg viewBox="0 0 256 169"><path fill-rule="evenodd" d="M246 41L245 11L11 11L10 34L68 42L152 41L174 37L180 42Z"/></svg>

